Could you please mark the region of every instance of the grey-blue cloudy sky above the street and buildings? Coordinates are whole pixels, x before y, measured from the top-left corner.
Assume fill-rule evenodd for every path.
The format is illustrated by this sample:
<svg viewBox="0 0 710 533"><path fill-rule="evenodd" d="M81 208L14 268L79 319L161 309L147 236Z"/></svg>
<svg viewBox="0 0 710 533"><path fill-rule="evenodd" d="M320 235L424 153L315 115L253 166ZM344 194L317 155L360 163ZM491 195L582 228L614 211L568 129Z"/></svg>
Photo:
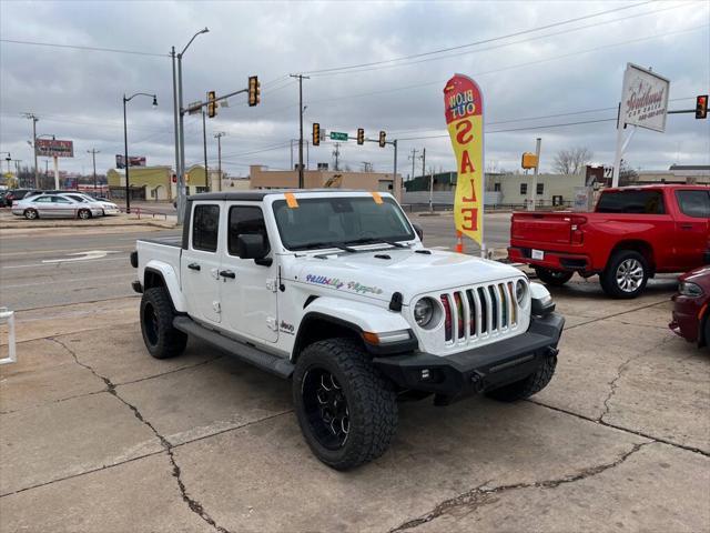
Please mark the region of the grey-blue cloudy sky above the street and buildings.
<svg viewBox="0 0 710 533"><path fill-rule="evenodd" d="M626 63L669 78L671 109L693 108L694 97L710 88L709 24L708 0L3 0L0 150L21 164L31 162L31 121L22 113L33 112L38 134L74 141L75 157L61 168L90 173L87 150L97 149L98 170L105 172L123 153L121 97L155 92L155 110L149 99L129 103L129 151L149 164L174 164L168 53L207 27L184 57L185 103L209 90L243 89L250 74L262 81L261 105L248 108L236 97L207 121L210 164L216 165L214 133L225 132L223 168L232 175L246 175L256 163L290 167L291 143L298 137L298 84L288 74L298 72L311 77L303 82L306 139L313 122L351 134L364 128L372 138L386 130L389 140L399 139L405 177L413 149L418 158L426 148L427 169L455 168L449 141L440 137L442 90L454 72L473 77L484 91L488 169L517 169L537 137L544 171L558 150L571 147L586 147L595 162L611 164L615 122L606 119L616 117ZM199 163L202 119L185 120L186 162ZM332 163L333 148L311 148L311 165ZM666 133L636 133L627 160L657 170L674 162L709 164L710 120L669 115ZM341 147L341 161L389 171L392 148L351 141ZM418 174L420 160L416 164Z"/></svg>

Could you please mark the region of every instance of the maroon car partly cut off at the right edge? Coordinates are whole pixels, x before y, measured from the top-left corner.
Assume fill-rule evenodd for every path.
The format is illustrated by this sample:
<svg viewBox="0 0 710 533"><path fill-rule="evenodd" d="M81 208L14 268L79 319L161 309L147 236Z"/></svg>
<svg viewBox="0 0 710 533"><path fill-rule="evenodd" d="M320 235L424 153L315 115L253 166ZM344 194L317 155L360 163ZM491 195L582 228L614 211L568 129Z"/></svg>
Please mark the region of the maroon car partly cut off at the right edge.
<svg viewBox="0 0 710 533"><path fill-rule="evenodd" d="M673 332L699 346L710 348L710 264L678 278L673 295Z"/></svg>

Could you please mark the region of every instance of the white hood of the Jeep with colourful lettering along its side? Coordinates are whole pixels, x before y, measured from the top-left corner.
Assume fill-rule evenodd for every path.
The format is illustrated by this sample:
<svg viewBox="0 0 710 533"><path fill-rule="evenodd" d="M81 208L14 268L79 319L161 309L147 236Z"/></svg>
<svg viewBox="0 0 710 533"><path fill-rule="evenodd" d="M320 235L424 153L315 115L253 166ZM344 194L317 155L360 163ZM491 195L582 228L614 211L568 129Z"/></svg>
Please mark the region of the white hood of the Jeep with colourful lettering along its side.
<svg viewBox="0 0 710 533"><path fill-rule="evenodd" d="M460 253L378 249L295 258L286 278L349 294L389 301L400 292L404 303L432 291L445 291L523 275L510 265Z"/></svg>

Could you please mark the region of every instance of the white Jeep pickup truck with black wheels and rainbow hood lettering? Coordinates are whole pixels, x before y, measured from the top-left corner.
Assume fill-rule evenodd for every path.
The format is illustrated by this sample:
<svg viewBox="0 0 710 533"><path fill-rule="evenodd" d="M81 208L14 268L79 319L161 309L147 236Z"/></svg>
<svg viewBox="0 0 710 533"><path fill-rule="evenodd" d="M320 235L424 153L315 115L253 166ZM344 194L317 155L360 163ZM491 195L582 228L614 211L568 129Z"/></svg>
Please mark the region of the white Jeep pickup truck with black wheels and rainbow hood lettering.
<svg viewBox="0 0 710 533"><path fill-rule="evenodd" d="M293 382L314 454L345 470L378 457L397 400L528 398L555 372L564 319L519 270L428 250L387 193L203 193L182 239L131 253L154 358L190 335Z"/></svg>

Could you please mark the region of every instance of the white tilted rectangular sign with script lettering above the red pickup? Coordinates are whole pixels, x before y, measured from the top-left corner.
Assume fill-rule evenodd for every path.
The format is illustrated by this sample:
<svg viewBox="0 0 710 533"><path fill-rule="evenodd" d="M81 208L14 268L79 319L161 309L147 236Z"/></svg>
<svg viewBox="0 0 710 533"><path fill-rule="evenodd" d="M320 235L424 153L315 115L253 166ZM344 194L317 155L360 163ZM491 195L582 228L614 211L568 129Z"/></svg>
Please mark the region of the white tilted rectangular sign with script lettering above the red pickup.
<svg viewBox="0 0 710 533"><path fill-rule="evenodd" d="M663 132L669 89L668 79L627 63L621 91L622 123Z"/></svg>

